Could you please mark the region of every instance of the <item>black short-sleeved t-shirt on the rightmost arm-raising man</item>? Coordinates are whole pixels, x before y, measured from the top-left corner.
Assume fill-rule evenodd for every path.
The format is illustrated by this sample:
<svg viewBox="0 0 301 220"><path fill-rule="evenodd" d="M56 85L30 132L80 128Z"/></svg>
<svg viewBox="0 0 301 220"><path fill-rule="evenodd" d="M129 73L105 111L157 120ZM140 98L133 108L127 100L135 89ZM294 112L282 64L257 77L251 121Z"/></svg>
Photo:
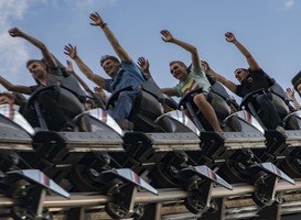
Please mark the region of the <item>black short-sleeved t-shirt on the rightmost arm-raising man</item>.
<svg viewBox="0 0 301 220"><path fill-rule="evenodd" d="M272 86L272 79L262 69L249 70L246 80L241 85L237 85L236 94L244 98L249 92L259 89L267 90L270 86Z"/></svg>

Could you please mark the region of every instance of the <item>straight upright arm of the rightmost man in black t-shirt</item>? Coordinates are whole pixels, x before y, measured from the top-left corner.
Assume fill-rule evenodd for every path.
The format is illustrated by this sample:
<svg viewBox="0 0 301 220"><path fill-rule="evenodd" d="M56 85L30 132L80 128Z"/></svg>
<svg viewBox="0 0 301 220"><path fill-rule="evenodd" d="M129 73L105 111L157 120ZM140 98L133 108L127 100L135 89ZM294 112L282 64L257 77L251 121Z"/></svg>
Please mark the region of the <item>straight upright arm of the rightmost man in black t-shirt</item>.
<svg viewBox="0 0 301 220"><path fill-rule="evenodd" d="M246 57L247 63L251 70L258 70L260 68L260 66L255 61L250 52L239 41L237 41L236 36L232 32L226 32L225 37L227 42L233 43L240 51L240 53Z"/></svg>

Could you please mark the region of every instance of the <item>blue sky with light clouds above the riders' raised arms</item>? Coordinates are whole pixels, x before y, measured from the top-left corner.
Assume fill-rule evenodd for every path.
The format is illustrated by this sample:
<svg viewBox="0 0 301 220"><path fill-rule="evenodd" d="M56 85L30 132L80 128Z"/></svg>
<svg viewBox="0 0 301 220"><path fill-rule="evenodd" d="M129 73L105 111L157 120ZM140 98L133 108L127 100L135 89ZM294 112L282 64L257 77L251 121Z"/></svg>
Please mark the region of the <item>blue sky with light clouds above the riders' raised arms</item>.
<svg viewBox="0 0 301 220"><path fill-rule="evenodd" d="M170 61L191 62L187 52L161 40L160 31L168 29L195 45L212 68L236 81L234 69L247 63L225 41L224 33L232 31L262 69L287 88L301 70L300 11L297 0L1 0L0 75L15 85L34 85L24 66L41 53L8 34L10 28L18 26L43 41L63 63L68 58L64 45L76 45L84 62L106 76L99 58L115 53L101 30L89 25L89 14L98 12L135 61L139 56L149 59L160 87L178 82L169 72ZM75 69L92 88L95 86Z"/></svg>

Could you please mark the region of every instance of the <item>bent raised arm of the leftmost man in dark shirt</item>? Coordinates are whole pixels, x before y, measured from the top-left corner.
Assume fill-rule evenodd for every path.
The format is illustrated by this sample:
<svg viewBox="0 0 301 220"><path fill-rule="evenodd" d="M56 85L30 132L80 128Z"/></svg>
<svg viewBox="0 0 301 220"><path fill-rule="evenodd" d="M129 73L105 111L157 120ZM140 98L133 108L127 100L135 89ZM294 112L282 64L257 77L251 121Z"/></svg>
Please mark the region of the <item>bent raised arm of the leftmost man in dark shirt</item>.
<svg viewBox="0 0 301 220"><path fill-rule="evenodd" d="M52 54L47 50L46 45L43 42L41 42L40 40L34 38L33 36L20 31L17 28L10 29L9 34L12 37L17 37L17 36L22 37L22 38L29 41L30 43L32 43L37 48L40 48L44 59L46 61L46 63L49 65L49 67L55 68L55 67L58 66L55 58L52 56Z"/></svg>

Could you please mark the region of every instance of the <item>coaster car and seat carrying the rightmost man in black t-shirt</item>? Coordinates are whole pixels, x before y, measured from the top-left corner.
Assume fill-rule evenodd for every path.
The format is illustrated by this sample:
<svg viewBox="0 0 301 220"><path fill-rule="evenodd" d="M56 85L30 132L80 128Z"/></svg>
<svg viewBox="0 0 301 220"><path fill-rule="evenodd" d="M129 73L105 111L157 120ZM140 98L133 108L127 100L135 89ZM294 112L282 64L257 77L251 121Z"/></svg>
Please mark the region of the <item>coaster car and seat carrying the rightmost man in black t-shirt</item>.
<svg viewBox="0 0 301 220"><path fill-rule="evenodd" d="M260 161L272 162L290 176L301 177L299 161L301 141L300 110L295 111L290 106L290 99L279 84L275 82L269 88L269 91L271 94L272 103L284 123L286 131L278 132L266 129L267 151L258 151L255 153ZM254 105L254 99L262 92L265 91L259 90L249 94L241 101L241 107L250 111L251 114L258 119L260 124L264 125L260 120L260 111L258 111L258 108Z"/></svg>

